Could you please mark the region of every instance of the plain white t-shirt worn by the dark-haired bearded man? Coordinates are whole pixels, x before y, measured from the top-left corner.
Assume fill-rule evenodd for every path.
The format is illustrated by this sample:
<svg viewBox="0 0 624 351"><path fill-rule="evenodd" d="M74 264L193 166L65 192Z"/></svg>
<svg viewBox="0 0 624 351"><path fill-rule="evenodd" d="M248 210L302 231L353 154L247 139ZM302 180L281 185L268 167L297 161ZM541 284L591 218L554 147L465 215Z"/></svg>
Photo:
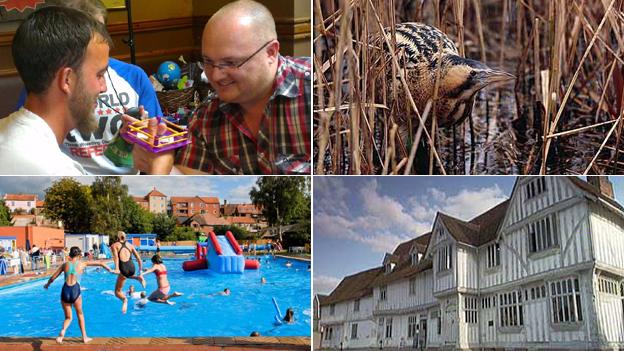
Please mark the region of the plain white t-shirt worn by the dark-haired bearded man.
<svg viewBox="0 0 624 351"><path fill-rule="evenodd" d="M61 151L50 126L22 107L0 119L0 174L83 175L86 172Z"/></svg>

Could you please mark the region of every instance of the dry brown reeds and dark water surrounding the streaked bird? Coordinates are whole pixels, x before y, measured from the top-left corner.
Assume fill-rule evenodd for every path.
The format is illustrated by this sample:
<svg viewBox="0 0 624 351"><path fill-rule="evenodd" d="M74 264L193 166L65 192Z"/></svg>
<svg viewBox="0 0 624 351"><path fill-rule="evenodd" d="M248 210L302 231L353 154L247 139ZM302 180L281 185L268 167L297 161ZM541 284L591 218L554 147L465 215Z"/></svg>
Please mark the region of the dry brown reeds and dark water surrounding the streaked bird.
<svg viewBox="0 0 624 351"><path fill-rule="evenodd" d="M315 173L621 173L623 2L314 0ZM433 25L461 54L517 77L477 95L474 155L469 121L453 147L435 98L407 119L415 105L393 103L409 96L402 57L371 38L400 22Z"/></svg>

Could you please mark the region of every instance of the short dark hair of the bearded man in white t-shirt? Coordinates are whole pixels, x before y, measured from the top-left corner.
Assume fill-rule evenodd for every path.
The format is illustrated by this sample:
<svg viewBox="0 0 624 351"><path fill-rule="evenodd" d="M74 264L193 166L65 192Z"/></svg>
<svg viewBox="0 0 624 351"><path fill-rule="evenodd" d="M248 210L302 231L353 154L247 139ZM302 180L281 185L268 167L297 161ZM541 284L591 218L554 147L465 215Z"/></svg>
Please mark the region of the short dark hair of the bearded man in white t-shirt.
<svg viewBox="0 0 624 351"><path fill-rule="evenodd" d="M103 24L76 9L43 7L28 16L15 32L13 61L26 91L45 92L63 67L79 70L91 39L112 47Z"/></svg>

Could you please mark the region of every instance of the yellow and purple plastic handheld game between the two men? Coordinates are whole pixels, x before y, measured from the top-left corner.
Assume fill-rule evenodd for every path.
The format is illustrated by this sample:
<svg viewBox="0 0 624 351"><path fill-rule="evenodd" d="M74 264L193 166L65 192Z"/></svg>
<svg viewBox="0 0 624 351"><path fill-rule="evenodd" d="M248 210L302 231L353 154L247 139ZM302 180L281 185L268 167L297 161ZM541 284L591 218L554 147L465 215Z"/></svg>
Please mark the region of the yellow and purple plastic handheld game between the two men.
<svg viewBox="0 0 624 351"><path fill-rule="evenodd" d="M132 110L133 109L130 109L126 113L134 117L133 112L135 111ZM138 110L136 112L138 113ZM148 120L139 120L128 124L128 128L124 132L124 138L153 153L177 149L190 143L188 131L186 129L165 119L161 119L160 117L154 118L158 119L159 124L161 121L165 122L167 129L163 134L152 135Z"/></svg>

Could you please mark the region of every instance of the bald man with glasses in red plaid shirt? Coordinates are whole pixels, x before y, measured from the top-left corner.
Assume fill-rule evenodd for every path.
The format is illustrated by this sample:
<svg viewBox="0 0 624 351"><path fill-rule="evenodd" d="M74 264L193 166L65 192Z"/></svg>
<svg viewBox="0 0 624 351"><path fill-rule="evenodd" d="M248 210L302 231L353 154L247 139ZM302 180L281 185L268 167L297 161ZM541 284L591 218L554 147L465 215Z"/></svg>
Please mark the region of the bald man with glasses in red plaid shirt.
<svg viewBox="0 0 624 351"><path fill-rule="evenodd" d="M281 56L276 38L273 16L255 1L229 3L210 18L202 56L218 98L190 123L191 144L175 158L179 171L310 173L311 61ZM172 152L134 149L143 171L171 172Z"/></svg>

